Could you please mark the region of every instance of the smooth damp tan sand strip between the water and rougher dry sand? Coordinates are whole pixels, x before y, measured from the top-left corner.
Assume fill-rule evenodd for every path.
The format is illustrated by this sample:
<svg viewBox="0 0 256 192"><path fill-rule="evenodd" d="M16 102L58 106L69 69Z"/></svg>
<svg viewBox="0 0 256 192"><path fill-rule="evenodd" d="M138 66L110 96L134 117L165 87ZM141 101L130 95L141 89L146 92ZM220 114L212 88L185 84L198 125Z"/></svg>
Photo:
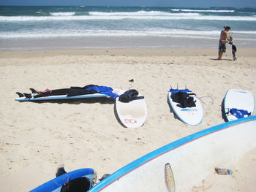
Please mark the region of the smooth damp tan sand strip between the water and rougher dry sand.
<svg viewBox="0 0 256 192"><path fill-rule="evenodd" d="M56 55L108 55L108 56L212 56L217 58L217 48L90 48L45 50L0 50L0 58L31 58ZM231 47L227 47L223 59L232 59ZM255 58L256 48L239 48L236 56Z"/></svg>

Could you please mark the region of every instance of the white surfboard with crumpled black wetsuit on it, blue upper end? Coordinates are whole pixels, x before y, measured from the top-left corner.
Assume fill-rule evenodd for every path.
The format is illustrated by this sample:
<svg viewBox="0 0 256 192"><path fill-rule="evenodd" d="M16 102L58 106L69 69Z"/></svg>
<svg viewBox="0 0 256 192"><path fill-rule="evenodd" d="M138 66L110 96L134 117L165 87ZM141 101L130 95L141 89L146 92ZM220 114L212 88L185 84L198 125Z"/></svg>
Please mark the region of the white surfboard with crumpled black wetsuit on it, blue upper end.
<svg viewBox="0 0 256 192"><path fill-rule="evenodd" d="M192 94L190 96L192 96L195 101L195 107L179 107L180 105L177 102L173 101L173 99L171 99L171 95L173 93L177 93L178 91L189 94L192 93L188 89L170 89L170 92L168 92L168 101L170 103L170 106L173 108L173 112L175 112L178 118L184 123L187 123L191 126L199 125L203 120L203 106L200 102L200 99L198 99L195 94Z"/></svg>

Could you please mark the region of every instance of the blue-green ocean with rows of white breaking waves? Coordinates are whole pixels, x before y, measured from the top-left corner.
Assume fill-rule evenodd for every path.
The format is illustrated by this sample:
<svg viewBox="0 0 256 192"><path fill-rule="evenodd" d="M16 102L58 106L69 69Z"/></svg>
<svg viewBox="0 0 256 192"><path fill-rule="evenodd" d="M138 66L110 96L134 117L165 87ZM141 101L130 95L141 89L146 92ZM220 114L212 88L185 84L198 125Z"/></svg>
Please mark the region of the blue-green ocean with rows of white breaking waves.
<svg viewBox="0 0 256 192"><path fill-rule="evenodd" d="M0 7L0 49L215 47L223 26L236 44L256 47L252 8Z"/></svg>

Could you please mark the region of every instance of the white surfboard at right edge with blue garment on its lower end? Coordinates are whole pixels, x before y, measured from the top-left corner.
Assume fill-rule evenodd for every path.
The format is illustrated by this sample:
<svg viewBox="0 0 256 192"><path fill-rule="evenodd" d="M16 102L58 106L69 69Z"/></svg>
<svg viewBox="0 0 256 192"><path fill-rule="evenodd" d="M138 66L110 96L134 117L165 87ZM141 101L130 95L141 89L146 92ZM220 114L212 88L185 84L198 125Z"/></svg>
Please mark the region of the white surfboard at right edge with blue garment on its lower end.
<svg viewBox="0 0 256 192"><path fill-rule="evenodd" d="M223 107L225 111L225 118L228 121L238 119L235 115L233 115L232 109L235 110L244 110L253 115L255 111L255 98L249 91L230 89L227 91ZM244 115L244 117L248 117L249 115Z"/></svg>

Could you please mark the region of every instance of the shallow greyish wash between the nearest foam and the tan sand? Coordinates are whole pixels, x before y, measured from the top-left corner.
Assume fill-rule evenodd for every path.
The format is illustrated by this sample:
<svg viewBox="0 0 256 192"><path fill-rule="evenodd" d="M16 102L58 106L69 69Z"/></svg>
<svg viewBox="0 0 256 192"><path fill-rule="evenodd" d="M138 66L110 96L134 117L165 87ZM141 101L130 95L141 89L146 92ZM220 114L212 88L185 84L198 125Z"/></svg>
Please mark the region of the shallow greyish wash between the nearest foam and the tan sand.
<svg viewBox="0 0 256 192"><path fill-rule="evenodd" d="M234 39L240 48L256 48L256 39ZM105 50L105 49L211 49L218 48L219 37L31 37L1 38L0 50ZM227 48L231 47L227 45Z"/></svg>

